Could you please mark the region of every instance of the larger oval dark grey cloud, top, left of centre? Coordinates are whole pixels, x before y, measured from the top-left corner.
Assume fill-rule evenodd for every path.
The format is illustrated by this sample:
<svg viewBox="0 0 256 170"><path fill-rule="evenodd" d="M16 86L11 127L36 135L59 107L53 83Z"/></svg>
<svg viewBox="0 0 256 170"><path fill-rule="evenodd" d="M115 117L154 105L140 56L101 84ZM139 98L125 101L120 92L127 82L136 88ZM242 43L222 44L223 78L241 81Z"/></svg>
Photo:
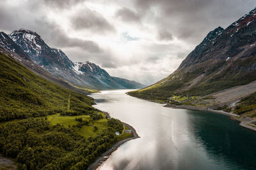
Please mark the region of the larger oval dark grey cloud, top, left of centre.
<svg viewBox="0 0 256 170"><path fill-rule="evenodd" d="M115 32L115 28L109 24L106 18L89 8L77 11L76 15L70 20L75 29L90 29L93 32Z"/></svg>

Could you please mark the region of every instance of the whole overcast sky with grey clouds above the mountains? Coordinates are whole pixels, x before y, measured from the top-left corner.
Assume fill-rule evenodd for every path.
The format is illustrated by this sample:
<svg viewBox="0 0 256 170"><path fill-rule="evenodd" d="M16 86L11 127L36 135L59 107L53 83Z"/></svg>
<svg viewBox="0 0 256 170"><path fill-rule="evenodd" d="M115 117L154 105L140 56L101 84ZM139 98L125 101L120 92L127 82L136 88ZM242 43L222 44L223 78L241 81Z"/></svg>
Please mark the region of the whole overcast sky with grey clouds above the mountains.
<svg viewBox="0 0 256 170"><path fill-rule="evenodd" d="M73 62L150 85L255 0L1 0L0 31L29 29Z"/></svg>

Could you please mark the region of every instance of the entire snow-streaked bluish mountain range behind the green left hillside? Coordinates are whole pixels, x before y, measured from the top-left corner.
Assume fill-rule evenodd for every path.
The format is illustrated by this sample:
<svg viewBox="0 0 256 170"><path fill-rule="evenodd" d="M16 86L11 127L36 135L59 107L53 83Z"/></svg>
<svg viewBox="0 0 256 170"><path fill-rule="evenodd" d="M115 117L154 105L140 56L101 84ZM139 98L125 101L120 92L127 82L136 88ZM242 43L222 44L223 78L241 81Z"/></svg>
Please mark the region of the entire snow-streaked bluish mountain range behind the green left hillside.
<svg viewBox="0 0 256 170"><path fill-rule="evenodd" d="M20 29L13 31L9 36L35 64L57 78L76 86L95 89L138 89L144 87L135 81L109 76L104 69L91 62L73 63L60 49L49 47L36 32Z"/></svg>

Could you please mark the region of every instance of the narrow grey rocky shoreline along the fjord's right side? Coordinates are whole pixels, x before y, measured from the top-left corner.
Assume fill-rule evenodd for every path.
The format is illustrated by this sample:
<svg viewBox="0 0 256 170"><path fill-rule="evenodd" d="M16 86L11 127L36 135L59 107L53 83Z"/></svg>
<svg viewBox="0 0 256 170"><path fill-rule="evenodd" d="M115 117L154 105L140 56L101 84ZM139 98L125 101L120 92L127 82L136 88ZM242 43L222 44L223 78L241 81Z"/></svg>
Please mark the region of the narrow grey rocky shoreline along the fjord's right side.
<svg viewBox="0 0 256 170"><path fill-rule="evenodd" d="M209 112L214 112L214 113L220 113L222 115L227 115L230 116L233 120L239 121L239 125L241 127L245 127L247 129L250 129L252 131L256 132L256 126L253 125L253 122L256 122L256 119L251 119L251 118L244 118L243 120L241 118L238 118L239 115L236 115L234 113L228 113L222 110L211 110L207 107L199 107L199 106L189 106L189 105L180 105L177 106L175 104L166 104L164 107L169 107L169 108L179 108L179 109L186 109L186 110L197 110L197 111L209 111Z"/></svg>

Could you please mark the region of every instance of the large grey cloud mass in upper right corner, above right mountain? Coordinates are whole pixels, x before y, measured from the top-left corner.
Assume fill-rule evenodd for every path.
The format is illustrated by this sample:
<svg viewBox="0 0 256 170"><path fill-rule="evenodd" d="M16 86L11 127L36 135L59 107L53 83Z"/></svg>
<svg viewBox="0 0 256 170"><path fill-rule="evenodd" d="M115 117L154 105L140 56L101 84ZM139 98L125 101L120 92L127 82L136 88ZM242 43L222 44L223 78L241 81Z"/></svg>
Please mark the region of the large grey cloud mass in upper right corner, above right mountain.
<svg viewBox="0 0 256 170"><path fill-rule="evenodd" d="M199 43L207 32L227 27L256 6L255 0L135 0L141 16L154 13L155 24L172 35Z"/></svg>

